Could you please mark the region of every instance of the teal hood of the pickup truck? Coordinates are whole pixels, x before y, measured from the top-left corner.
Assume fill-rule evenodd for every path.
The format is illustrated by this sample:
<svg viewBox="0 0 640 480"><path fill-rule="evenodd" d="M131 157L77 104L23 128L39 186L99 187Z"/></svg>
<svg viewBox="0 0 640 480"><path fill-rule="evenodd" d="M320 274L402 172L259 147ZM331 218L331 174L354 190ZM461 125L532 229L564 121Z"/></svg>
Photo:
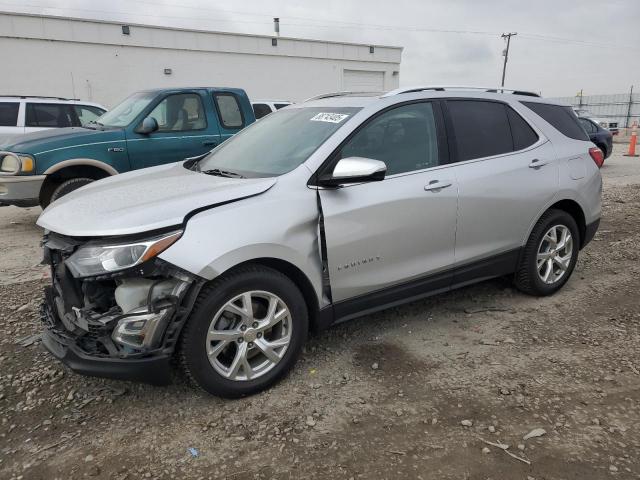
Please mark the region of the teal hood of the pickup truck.
<svg viewBox="0 0 640 480"><path fill-rule="evenodd" d="M51 128L0 139L0 150L38 155L58 148L124 138L122 129L92 130L83 127Z"/></svg>

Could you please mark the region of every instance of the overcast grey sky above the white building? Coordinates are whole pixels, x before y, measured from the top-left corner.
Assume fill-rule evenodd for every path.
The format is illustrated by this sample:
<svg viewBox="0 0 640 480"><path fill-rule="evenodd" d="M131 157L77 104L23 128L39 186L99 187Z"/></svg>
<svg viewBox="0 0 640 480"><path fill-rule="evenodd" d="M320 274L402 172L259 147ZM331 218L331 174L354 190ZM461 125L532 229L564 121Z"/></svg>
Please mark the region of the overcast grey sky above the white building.
<svg viewBox="0 0 640 480"><path fill-rule="evenodd" d="M0 0L0 10L404 47L400 85L640 91L640 0Z"/></svg>

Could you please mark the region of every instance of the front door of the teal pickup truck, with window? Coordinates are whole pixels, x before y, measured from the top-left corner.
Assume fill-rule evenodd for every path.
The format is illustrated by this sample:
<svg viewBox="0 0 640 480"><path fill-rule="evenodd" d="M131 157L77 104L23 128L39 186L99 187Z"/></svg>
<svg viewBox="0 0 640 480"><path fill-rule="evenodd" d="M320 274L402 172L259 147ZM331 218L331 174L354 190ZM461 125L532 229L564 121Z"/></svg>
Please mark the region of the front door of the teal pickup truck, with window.
<svg viewBox="0 0 640 480"><path fill-rule="evenodd" d="M219 142L217 122L207 121L203 98L198 92L164 97L147 115L158 122L149 134L127 132L127 149L132 169L178 162L201 155Z"/></svg>

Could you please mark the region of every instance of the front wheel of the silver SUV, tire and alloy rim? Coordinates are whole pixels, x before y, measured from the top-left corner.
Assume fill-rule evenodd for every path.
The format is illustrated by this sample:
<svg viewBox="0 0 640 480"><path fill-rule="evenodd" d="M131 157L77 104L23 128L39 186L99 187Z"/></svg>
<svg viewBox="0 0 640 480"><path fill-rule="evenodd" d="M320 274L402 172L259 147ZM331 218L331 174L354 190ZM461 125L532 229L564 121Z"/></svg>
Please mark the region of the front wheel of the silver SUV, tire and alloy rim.
<svg viewBox="0 0 640 480"><path fill-rule="evenodd" d="M237 398L280 380L307 338L307 306L282 273L247 266L204 287L181 336L187 376L208 393Z"/></svg>

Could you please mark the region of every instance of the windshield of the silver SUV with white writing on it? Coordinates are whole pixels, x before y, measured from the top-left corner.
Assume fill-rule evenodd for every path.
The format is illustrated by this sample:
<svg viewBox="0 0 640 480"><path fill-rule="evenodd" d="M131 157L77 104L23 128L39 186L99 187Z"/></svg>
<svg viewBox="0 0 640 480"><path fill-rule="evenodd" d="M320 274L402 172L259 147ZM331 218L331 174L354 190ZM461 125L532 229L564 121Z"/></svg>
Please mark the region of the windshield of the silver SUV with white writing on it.
<svg viewBox="0 0 640 480"><path fill-rule="evenodd" d="M201 172L273 177L301 165L360 108L291 108L272 113L200 160Z"/></svg>

